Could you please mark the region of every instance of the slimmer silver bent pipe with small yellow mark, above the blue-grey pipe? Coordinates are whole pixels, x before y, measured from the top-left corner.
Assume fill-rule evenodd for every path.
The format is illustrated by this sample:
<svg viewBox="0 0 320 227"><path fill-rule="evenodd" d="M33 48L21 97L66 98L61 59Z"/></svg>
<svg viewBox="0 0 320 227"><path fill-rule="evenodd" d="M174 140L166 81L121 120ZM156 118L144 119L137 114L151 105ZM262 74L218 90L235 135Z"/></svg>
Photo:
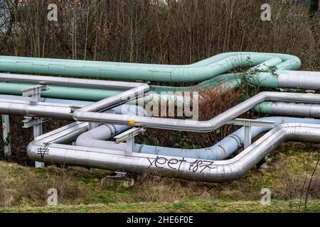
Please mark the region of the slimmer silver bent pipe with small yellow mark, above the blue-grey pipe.
<svg viewBox="0 0 320 227"><path fill-rule="evenodd" d="M227 121L233 120L237 116L244 114L262 101L296 101L306 103L319 103L320 94L300 94L288 92L261 92L241 104L219 114L208 121L181 120L172 118L156 118L145 116L129 116L106 113L94 113L85 111L75 111L73 118L75 121L90 121L100 123L122 124L129 126L142 126L146 128L162 128L176 131L196 131L210 132L223 126ZM103 104L103 102L102 102Z"/></svg>

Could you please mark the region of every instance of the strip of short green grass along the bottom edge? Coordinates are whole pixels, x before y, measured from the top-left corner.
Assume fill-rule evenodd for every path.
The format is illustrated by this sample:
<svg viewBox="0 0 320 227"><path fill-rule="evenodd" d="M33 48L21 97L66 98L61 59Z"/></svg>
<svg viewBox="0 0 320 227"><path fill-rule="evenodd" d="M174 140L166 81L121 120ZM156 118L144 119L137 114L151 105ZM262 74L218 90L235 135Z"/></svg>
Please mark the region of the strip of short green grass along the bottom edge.
<svg viewBox="0 0 320 227"><path fill-rule="evenodd" d="M81 213L132 213L132 212L298 212L299 201L277 201L272 200L270 205L262 205L259 201L234 201L224 202L215 200L195 200L176 203L134 203L134 204L95 204L78 206L43 206L31 207L21 206L11 209L0 209L0 212L81 212ZM300 205L300 212L320 212L320 200L309 201L306 209L304 204Z"/></svg>

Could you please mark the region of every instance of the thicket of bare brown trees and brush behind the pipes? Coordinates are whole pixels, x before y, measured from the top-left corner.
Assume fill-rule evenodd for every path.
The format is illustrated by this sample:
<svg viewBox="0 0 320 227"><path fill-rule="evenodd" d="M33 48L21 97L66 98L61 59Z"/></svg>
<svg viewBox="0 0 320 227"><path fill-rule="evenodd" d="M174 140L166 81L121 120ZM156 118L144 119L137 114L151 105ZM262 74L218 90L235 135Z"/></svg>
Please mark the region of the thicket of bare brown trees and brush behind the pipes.
<svg viewBox="0 0 320 227"><path fill-rule="evenodd" d="M320 20L309 18L308 5L270 0L272 21L262 21L257 0L50 3L58 23L47 19L47 0L18 4L18 21L14 9L4 14L18 33L0 25L1 55L180 65L220 52L283 52L301 57L304 70L319 69Z"/></svg>

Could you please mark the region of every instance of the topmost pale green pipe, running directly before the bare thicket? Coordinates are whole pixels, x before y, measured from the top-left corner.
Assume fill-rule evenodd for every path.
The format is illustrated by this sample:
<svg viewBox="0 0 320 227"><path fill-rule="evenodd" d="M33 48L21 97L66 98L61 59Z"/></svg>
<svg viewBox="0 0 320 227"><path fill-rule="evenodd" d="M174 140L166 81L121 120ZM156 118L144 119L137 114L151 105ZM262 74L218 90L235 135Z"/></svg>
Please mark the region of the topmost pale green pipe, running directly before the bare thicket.
<svg viewBox="0 0 320 227"><path fill-rule="evenodd" d="M237 67L256 66L272 58L282 60L282 64L286 65L288 70L299 68L301 65L299 58L293 55L257 52L228 52L209 57L192 65L156 65L0 56L0 71L108 79L140 79L157 82L202 82Z"/></svg>

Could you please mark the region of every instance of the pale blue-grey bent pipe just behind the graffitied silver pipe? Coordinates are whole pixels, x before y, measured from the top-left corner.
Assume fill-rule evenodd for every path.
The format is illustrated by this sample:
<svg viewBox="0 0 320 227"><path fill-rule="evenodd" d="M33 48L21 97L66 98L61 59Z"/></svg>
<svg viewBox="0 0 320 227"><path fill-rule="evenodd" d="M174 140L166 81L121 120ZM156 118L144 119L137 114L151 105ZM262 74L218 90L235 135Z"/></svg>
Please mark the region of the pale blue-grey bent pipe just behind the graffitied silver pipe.
<svg viewBox="0 0 320 227"><path fill-rule="evenodd" d="M320 124L320 120L309 118L285 118L285 117L265 117L259 118L260 121L274 121L274 125L277 126L282 123L312 123ZM123 127L123 126L122 126ZM80 135L76 141L76 145L87 148L102 148L112 150L126 150L125 143L114 143L112 141L106 141L114 135L115 131L121 131L121 126L106 125L100 126L93 130L87 131ZM261 133L270 131L271 128L263 127L251 127L251 137L255 138ZM140 145L135 144L135 153L145 153L152 155L164 155L174 157L189 157L204 160L224 160L226 157L235 153L242 147L245 141L245 128L242 127L238 131L223 138L219 143L211 146L210 148L199 149L180 149L180 148L166 148L154 145Z"/></svg>

